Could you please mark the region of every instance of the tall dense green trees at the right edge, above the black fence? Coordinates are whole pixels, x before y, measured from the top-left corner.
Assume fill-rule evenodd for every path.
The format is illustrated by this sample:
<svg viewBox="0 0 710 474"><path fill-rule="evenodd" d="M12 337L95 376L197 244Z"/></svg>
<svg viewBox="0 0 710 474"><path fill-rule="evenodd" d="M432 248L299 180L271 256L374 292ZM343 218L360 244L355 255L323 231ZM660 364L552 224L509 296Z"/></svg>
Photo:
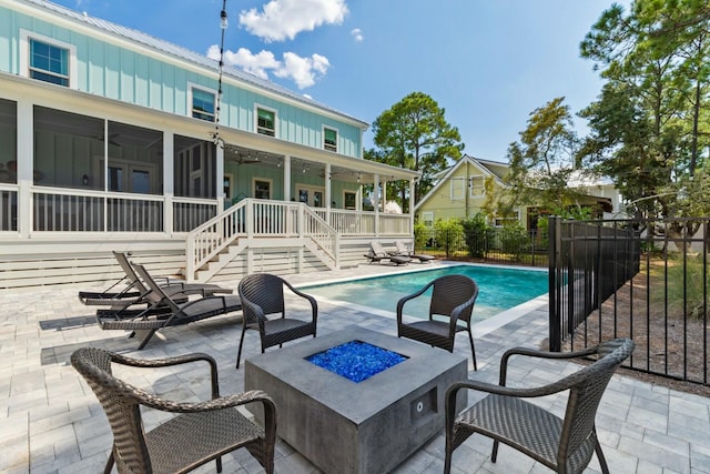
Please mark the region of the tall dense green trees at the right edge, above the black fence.
<svg viewBox="0 0 710 474"><path fill-rule="evenodd" d="M606 79L580 113L591 130L580 159L615 181L638 218L699 215L710 152L708 2L637 0L628 13L615 4L580 49Z"/></svg>

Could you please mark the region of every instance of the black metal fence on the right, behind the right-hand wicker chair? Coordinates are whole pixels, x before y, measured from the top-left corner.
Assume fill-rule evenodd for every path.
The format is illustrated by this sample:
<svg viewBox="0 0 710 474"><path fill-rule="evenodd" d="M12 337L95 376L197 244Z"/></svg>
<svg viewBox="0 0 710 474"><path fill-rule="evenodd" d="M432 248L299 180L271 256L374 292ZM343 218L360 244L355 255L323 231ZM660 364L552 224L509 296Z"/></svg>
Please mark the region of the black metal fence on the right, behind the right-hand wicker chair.
<svg viewBox="0 0 710 474"><path fill-rule="evenodd" d="M630 336L630 367L709 384L709 218L552 218L549 242L550 350Z"/></svg>

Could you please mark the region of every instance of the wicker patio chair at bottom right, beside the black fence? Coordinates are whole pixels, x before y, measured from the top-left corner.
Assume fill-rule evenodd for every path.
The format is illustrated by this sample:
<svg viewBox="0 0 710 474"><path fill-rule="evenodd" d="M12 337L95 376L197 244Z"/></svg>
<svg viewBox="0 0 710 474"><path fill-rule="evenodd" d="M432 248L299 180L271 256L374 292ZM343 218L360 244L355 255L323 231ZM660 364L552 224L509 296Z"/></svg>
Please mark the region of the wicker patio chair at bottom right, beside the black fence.
<svg viewBox="0 0 710 474"><path fill-rule="evenodd" d="M453 384L446 392L444 472L450 472L454 450L471 434L480 433L494 440L490 456L494 463L500 442L558 473L581 473L596 452L601 472L609 473L595 417L611 375L631 355L633 346L630 339L616 339L571 353L516 347L503 355L499 385L471 380ZM591 355L599 359L557 382L534 389L513 389L505 386L506 371L508 359L516 354L555 360ZM477 390L488 395L457 415L456 396L460 390ZM565 391L569 393L564 417L525 401Z"/></svg>

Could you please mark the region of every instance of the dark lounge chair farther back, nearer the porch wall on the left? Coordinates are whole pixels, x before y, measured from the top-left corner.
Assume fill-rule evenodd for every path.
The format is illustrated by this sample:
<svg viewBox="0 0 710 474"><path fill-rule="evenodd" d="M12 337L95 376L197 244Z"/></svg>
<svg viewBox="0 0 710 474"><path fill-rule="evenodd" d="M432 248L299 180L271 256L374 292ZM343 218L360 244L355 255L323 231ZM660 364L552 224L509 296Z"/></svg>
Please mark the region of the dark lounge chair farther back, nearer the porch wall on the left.
<svg viewBox="0 0 710 474"><path fill-rule="evenodd" d="M110 306L113 312L121 313L130 306L148 303L145 295L150 292L141 279L139 279L135 270L128 256L123 252L113 252L113 256L121 265L125 275L101 292L80 291L79 300L87 305ZM163 289L163 291L180 301L181 293L183 295L200 294L202 296L211 296L213 294L231 294L232 289L223 288L211 283L186 283L179 280L172 280L164 276L153 276L153 280ZM118 290L119 285L124 283L125 286ZM186 301L186 297L182 297ZM106 314L106 311L102 311Z"/></svg>

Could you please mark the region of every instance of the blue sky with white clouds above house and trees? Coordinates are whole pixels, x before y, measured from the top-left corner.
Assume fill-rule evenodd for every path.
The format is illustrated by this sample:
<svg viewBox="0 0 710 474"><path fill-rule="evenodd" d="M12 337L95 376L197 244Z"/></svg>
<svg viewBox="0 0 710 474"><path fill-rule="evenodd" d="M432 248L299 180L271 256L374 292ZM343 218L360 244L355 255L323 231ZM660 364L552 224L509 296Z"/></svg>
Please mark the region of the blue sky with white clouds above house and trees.
<svg viewBox="0 0 710 474"><path fill-rule="evenodd" d="M209 54L222 0L54 0ZM621 2L627 3L627 2ZM467 154L507 161L529 113L599 94L579 42L611 0L227 0L226 61L372 123L430 95ZM219 51L219 50L217 50ZM577 131L586 132L577 122ZM365 147L373 147L365 133Z"/></svg>

